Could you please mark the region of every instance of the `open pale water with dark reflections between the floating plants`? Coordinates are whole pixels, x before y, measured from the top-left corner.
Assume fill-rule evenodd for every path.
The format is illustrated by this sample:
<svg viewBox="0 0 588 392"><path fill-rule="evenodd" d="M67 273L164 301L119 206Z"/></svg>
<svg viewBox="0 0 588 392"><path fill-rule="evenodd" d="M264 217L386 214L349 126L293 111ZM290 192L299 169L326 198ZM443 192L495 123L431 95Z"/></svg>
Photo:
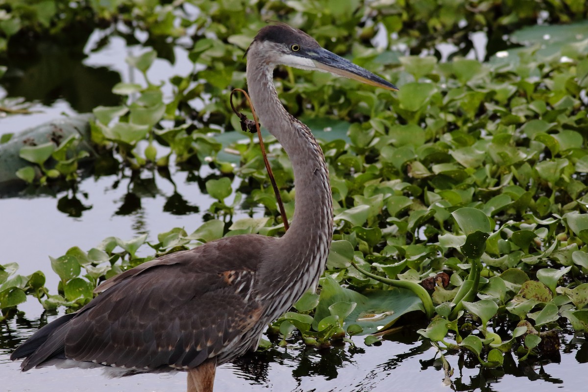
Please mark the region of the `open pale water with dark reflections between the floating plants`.
<svg viewBox="0 0 588 392"><path fill-rule="evenodd" d="M39 43L34 55L21 53L7 65L2 79L6 96L33 102L33 115L0 119L0 134L35 126L65 112L89 112L99 105L115 105L112 86L132 82L123 58L139 50L108 32L86 32L73 45ZM171 52L169 52L171 50ZM191 62L180 47L173 53L173 65L158 59L149 69L152 82L170 72L189 73ZM162 51L163 52L163 51ZM481 56L485 57L484 55ZM14 62L13 62L14 61ZM116 173L89 177L75 189L47 189L45 195L0 198L0 264L17 262L22 274L47 272L47 286L56 287L58 277L50 272L48 255L59 256L72 246L89 249L107 236L131 239L139 234L149 238L162 230L185 227L191 232L206 219L213 202L203 195L204 180L213 177L207 166L188 170L142 173L139 177ZM233 184L233 186L236 186ZM260 209L239 210L235 219L262 216ZM38 327L55 319L39 304L19 306L22 317L0 324L0 380L6 391L181 391L184 374L146 374L108 379L100 370L55 369L19 371L9 354ZM585 388L578 371L588 362L588 343L567 331L560 332L559 356L541 362L518 361L506 354L498 369L482 368L466 352L446 355L455 369L452 387L444 379L442 361L435 347L419 341L414 324L389 334L381 344L366 346L363 337L330 349L277 347L249 354L219 368L216 391L577 391Z"/></svg>

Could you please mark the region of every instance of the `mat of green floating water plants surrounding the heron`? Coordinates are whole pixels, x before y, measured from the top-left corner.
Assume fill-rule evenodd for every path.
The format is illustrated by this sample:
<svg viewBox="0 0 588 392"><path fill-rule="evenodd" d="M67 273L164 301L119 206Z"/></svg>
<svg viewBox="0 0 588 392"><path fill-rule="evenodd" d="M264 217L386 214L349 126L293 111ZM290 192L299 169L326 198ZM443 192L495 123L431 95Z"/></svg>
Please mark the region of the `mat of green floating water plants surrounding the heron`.
<svg viewBox="0 0 588 392"><path fill-rule="evenodd" d="M57 1L6 4L7 53L14 42L84 21L130 42L129 28L144 30L142 45L151 46L127 59L143 81L114 84L119 103L93 109L92 153L76 149L81 136L20 150L29 164L17 175L29 186L75 182L78 163L93 175L209 165L218 178L205 183L216 202L201 227L73 247L51 259L57 290L45 287L43 272L1 266L5 317L27 295L48 310L79 309L98 282L161 254L222 236L283 233L259 147L240 142L249 138L240 130L222 132L240 129L228 95L246 87L245 49L262 19L280 19L400 91L276 72L280 99L325 153L335 237L319 294L305 294L275 321L272 341L325 347L366 335L377 344L392 326L422 324L420 336L441 353L469 350L482 366L498 367L506 351L520 360L549 356L559 350L557 331L588 330L588 24L573 22L586 18L585 2L106 1L74 2L75 12ZM556 23L564 25L549 25ZM477 31L488 38L484 53L473 50ZM153 61L173 61L168 39L188 48L193 73L153 83ZM441 53L441 42L453 52ZM289 160L269 150L292 216ZM242 205L265 214L233 222ZM152 256L138 257L146 247Z"/></svg>

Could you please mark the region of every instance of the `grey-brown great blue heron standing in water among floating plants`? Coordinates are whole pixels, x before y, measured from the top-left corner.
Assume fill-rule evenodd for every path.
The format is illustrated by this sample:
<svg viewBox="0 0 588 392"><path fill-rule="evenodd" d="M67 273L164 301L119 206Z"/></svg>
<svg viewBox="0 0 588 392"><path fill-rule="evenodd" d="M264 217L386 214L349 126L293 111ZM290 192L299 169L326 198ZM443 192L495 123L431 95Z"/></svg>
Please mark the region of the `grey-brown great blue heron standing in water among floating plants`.
<svg viewBox="0 0 588 392"><path fill-rule="evenodd" d="M296 210L281 238L242 235L166 254L106 280L81 310L38 330L12 353L22 370L68 361L118 376L188 371L188 391L212 391L216 366L256 349L263 328L316 287L332 239L329 172L308 126L280 103L283 64L396 90L285 24L262 28L247 51L260 121L292 160Z"/></svg>

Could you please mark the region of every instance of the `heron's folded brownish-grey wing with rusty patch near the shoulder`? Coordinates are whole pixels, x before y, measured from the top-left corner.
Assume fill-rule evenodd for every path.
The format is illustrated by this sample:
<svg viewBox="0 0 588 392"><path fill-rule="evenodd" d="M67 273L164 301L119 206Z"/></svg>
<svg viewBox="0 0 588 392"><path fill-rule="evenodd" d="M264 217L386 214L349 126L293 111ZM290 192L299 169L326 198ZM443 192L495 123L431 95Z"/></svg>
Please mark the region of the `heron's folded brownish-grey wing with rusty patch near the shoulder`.
<svg viewBox="0 0 588 392"><path fill-rule="evenodd" d="M74 317L37 332L45 340L36 339L41 344L23 369L60 356L126 368L193 368L226 353L262 314L253 287L258 260L273 240L230 237L106 281Z"/></svg>

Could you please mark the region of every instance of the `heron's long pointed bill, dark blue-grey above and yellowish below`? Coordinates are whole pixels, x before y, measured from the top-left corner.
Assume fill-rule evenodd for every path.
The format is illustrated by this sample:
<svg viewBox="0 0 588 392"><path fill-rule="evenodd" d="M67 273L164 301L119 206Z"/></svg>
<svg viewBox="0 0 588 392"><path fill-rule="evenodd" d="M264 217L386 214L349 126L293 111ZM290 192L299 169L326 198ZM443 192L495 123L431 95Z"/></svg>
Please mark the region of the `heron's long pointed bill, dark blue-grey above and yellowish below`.
<svg viewBox="0 0 588 392"><path fill-rule="evenodd" d="M345 78L355 79L368 85L385 88L392 91L397 91L398 88L392 83L374 75L367 69L355 65L354 63L329 52L326 49L318 48L312 51L306 51L306 56L312 59L317 69L320 71L335 73L336 75L345 76Z"/></svg>

